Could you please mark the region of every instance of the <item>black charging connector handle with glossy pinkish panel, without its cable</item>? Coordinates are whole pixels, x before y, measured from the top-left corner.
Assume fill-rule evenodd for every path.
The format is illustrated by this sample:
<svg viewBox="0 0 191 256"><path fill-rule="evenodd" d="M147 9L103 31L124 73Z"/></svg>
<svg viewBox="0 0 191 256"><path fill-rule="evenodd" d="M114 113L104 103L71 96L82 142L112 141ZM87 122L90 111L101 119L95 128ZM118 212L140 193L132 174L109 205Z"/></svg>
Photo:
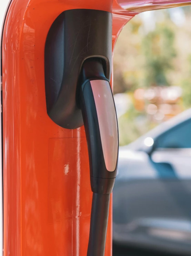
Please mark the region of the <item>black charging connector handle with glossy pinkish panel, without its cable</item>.
<svg viewBox="0 0 191 256"><path fill-rule="evenodd" d="M88 144L91 189L112 192L118 162L118 125L113 95L100 59L82 67L81 110Z"/></svg>

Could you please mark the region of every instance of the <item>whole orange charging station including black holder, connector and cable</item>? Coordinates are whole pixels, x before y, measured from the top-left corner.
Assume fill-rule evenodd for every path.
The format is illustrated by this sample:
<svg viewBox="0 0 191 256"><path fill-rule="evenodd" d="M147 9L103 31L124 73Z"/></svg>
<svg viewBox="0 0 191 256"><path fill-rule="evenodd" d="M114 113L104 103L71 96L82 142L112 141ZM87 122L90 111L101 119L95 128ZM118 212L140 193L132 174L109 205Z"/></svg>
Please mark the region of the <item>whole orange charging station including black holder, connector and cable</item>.
<svg viewBox="0 0 191 256"><path fill-rule="evenodd" d="M4 256L112 255L110 194L118 155L112 54L122 27L148 7L127 6L10 2L1 45ZM105 115L114 113L103 127L96 94L108 97ZM104 141L105 127L113 128Z"/></svg>

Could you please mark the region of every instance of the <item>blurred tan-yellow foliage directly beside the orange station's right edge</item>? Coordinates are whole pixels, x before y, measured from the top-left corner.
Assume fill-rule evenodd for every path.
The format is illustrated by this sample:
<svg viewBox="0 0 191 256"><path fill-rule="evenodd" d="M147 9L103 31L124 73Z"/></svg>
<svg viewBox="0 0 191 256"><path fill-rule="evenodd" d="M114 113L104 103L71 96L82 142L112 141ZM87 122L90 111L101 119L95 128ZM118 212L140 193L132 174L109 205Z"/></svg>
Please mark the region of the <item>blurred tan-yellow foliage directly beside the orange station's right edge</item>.
<svg viewBox="0 0 191 256"><path fill-rule="evenodd" d="M133 18L122 30L114 49L114 94L134 91L138 87L142 63L139 28L142 21Z"/></svg>

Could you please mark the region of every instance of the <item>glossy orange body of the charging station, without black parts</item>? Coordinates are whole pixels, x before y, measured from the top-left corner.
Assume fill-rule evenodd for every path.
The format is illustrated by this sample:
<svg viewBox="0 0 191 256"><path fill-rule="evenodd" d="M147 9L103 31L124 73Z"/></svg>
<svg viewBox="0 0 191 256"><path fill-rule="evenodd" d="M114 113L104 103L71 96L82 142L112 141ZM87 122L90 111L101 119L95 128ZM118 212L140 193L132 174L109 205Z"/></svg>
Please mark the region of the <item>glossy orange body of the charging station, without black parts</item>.
<svg viewBox="0 0 191 256"><path fill-rule="evenodd" d="M159 0L150 6L146 1L125 0L10 2L2 39L4 256L87 253L92 192L84 127L64 129L46 110L44 46L53 21L69 9L112 12L114 48L120 30L135 14L178 4ZM112 255L111 207L112 200L105 256Z"/></svg>

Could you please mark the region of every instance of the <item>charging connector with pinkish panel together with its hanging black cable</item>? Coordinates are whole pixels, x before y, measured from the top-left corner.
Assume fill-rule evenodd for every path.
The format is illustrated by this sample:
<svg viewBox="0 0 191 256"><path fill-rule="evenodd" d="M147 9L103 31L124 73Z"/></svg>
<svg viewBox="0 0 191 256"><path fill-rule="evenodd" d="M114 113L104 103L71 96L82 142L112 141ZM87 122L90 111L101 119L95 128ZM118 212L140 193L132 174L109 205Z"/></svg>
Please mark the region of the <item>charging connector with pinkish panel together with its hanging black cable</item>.
<svg viewBox="0 0 191 256"><path fill-rule="evenodd" d="M118 163L118 124L101 59L87 60L81 74L81 110L93 192L88 256L104 256L109 201Z"/></svg>

